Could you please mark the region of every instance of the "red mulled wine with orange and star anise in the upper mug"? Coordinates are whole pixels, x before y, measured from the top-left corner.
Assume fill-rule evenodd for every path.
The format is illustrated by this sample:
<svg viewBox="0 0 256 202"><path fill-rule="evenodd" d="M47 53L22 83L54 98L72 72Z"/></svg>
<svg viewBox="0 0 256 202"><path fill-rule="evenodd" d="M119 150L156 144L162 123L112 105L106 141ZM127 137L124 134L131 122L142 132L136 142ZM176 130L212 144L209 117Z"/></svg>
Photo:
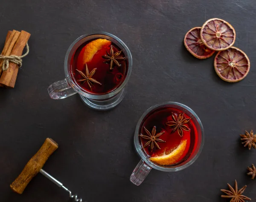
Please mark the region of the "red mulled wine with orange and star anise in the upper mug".
<svg viewBox="0 0 256 202"><path fill-rule="evenodd" d="M73 81L90 94L108 94L125 80L128 60L116 44L93 39L82 44L71 59Z"/></svg>

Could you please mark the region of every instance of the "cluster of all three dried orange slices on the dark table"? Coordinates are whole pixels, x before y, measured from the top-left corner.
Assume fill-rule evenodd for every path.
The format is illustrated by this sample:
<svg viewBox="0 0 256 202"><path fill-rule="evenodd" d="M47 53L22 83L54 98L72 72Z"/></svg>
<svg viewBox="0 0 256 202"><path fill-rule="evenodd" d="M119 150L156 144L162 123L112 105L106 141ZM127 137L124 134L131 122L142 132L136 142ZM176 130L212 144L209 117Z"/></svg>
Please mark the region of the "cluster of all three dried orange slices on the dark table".
<svg viewBox="0 0 256 202"><path fill-rule="evenodd" d="M202 27L189 30L184 38L186 49L195 57L205 59L218 53L214 68L218 76L227 82L238 82L247 76L250 60L239 48L233 47L236 31L230 23L219 18L207 20Z"/></svg>

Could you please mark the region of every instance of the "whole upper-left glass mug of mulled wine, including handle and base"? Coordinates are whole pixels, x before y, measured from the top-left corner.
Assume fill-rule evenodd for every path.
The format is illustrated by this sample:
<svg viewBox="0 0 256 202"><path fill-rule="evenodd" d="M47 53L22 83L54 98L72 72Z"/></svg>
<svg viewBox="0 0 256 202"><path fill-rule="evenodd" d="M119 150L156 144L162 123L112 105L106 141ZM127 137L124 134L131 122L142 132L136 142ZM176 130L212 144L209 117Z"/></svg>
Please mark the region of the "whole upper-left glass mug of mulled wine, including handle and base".
<svg viewBox="0 0 256 202"><path fill-rule="evenodd" d="M90 108L108 110L125 96L132 57L125 43L113 34L99 32L77 38L64 60L65 79L48 87L58 100L78 93Z"/></svg>

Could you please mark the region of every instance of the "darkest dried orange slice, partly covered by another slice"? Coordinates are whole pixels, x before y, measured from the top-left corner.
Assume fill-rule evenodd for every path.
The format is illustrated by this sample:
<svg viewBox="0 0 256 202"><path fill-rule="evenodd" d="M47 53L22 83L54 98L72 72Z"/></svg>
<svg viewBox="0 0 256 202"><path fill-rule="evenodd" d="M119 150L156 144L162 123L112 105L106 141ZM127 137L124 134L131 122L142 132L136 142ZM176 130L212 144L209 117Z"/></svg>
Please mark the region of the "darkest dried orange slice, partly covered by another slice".
<svg viewBox="0 0 256 202"><path fill-rule="evenodd" d="M194 27L190 29L184 38L184 45L186 49L193 56L199 59L206 59L211 57L215 51L207 48L200 38L201 27Z"/></svg>

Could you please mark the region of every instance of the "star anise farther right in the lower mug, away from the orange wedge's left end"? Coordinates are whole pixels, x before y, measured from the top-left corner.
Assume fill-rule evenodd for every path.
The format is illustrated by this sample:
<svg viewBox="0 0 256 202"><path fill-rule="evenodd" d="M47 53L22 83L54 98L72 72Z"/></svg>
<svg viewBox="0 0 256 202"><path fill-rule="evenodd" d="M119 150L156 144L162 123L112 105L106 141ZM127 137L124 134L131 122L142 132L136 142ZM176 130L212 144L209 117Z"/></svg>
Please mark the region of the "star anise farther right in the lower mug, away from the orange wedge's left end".
<svg viewBox="0 0 256 202"><path fill-rule="evenodd" d="M172 127L172 132L174 133L178 129L178 134L180 137L183 136L183 130L189 131L189 128L184 125L190 121L191 118L185 118L184 112L179 114L179 117L177 117L177 114L172 113L172 119L173 121L166 122L166 125L169 125Z"/></svg>

